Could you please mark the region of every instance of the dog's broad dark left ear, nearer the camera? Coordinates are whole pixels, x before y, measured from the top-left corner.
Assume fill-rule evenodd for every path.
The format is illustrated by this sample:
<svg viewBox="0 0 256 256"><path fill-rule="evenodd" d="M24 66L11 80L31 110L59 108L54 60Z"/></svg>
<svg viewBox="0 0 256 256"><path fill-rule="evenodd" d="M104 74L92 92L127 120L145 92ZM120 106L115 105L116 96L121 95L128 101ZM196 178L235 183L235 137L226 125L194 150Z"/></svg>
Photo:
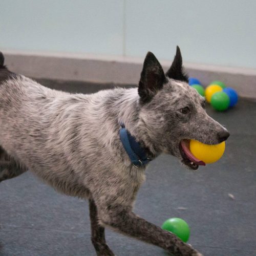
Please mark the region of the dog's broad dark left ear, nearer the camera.
<svg viewBox="0 0 256 256"><path fill-rule="evenodd" d="M163 87L166 77L156 56L148 52L139 81L139 95L142 102L150 101L154 95Z"/></svg>

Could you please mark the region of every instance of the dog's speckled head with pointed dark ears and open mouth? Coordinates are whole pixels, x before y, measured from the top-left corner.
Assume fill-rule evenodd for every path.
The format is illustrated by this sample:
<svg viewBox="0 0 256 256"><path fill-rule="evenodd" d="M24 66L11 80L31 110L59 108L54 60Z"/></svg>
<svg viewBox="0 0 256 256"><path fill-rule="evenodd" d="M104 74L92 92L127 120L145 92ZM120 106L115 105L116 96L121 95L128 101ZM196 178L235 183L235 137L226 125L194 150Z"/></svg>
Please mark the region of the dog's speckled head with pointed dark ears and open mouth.
<svg viewBox="0 0 256 256"><path fill-rule="evenodd" d="M205 112L205 99L188 85L179 47L172 66L164 71L151 52L144 60L138 93L140 128L145 144L171 154L191 169L202 164L187 154L189 139L205 144L226 140L228 131Z"/></svg>

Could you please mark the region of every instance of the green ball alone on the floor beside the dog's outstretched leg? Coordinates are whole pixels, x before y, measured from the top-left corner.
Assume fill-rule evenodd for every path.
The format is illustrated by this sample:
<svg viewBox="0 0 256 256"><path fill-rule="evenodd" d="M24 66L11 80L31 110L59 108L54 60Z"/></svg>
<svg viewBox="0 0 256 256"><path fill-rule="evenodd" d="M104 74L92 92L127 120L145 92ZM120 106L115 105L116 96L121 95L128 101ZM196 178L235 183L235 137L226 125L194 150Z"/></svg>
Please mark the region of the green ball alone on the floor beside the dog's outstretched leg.
<svg viewBox="0 0 256 256"><path fill-rule="evenodd" d="M185 243L189 239L189 235L190 235L189 226L184 220L180 218L172 218L172 219L166 220L162 225L162 229L176 234L176 236Z"/></svg>

